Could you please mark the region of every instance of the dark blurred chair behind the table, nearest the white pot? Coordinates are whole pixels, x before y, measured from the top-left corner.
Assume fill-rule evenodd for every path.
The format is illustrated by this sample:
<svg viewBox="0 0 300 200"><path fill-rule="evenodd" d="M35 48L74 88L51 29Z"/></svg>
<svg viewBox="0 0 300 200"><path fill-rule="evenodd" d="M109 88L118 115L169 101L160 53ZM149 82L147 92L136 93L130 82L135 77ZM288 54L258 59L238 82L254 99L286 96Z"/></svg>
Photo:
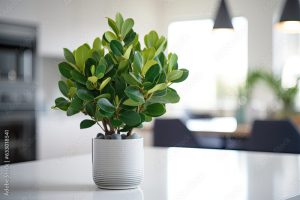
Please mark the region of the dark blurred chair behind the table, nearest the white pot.
<svg viewBox="0 0 300 200"><path fill-rule="evenodd" d="M194 135L180 119L156 119L154 121L154 146L224 148L223 139L215 135Z"/></svg>

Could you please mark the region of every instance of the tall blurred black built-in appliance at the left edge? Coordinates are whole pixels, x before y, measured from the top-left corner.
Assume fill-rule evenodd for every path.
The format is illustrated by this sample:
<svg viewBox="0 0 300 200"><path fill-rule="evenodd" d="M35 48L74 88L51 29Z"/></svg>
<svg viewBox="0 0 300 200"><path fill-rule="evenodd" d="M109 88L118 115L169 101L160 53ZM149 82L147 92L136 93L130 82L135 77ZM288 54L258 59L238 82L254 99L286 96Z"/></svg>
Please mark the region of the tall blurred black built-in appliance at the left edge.
<svg viewBox="0 0 300 200"><path fill-rule="evenodd" d="M36 159L37 29L0 22L0 164Z"/></svg>

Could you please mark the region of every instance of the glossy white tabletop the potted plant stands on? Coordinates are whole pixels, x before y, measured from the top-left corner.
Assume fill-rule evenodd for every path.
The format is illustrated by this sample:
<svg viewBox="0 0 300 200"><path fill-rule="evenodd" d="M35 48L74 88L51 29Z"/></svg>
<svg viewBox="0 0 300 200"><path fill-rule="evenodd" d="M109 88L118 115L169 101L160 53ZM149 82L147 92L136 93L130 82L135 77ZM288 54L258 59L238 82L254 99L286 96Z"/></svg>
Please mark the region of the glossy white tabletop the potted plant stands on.
<svg viewBox="0 0 300 200"><path fill-rule="evenodd" d="M119 191L98 189L91 165L82 155L1 166L0 199L300 199L299 155L145 148L142 185Z"/></svg>

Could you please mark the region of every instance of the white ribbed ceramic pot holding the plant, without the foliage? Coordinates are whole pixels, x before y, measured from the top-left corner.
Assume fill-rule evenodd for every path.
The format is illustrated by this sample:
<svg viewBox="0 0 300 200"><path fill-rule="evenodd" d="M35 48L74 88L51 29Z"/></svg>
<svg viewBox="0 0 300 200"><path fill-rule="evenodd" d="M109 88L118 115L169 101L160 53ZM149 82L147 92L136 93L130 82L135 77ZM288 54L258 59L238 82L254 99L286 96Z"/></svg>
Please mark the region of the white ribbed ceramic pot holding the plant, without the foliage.
<svg viewBox="0 0 300 200"><path fill-rule="evenodd" d="M143 138L93 139L93 179L99 188L132 189L144 177Z"/></svg>

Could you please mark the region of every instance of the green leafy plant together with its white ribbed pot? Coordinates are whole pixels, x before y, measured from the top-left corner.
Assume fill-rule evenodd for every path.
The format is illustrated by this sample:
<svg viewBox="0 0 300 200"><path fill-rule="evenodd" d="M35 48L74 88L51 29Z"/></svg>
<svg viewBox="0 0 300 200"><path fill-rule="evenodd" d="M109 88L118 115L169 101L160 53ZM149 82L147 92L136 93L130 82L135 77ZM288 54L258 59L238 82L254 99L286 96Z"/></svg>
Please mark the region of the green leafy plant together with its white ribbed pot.
<svg viewBox="0 0 300 200"><path fill-rule="evenodd" d="M80 128L97 124L102 133L93 139L93 178L107 189L134 188L143 178L143 139L133 133L166 112L167 103L179 96L170 86L184 81L188 70L179 69L177 55L164 51L167 40L150 31L141 47L133 19L107 18L112 31L93 46L83 44L73 52L64 49L58 66L64 97L54 108L67 116L83 113Z"/></svg>

